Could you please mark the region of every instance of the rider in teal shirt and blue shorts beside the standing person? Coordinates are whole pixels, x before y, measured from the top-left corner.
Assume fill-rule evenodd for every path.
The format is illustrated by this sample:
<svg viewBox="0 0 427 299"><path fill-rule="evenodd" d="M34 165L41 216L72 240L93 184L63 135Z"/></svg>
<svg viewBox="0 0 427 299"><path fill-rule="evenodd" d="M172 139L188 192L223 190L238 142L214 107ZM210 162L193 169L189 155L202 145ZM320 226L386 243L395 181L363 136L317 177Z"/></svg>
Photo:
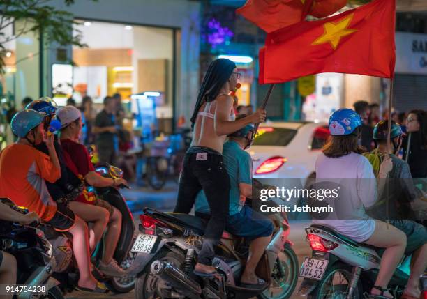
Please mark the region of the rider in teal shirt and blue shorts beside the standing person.
<svg viewBox="0 0 427 299"><path fill-rule="evenodd" d="M237 119L243 117L245 116L241 115ZM251 240L249 257L244 273L241 275L240 286L261 289L265 282L255 275L255 268L271 240L273 224L267 217L256 213L244 203L246 197L252 198L252 159L245 149L250 146L253 134L253 124L246 125L241 130L228 135L229 139L224 144L224 165L230 176L230 211L225 229L235 236ZM197 194L195 211L200 214L210 212L203 191Z"/></svg>

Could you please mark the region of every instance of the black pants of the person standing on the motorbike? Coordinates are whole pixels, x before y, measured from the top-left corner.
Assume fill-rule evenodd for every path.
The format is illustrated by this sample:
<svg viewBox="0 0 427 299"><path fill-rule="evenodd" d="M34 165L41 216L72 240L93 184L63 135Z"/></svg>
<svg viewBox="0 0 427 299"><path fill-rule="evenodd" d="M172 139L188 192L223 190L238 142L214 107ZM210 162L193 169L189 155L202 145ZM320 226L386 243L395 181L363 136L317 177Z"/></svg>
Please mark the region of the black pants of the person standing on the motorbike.
<svg viewBox="0 0 427 299"><path fill-rule="evenodd" d="M198 261L210 266L215 256L215 246L227 224L230 178L220 153L210 148L193 146L188 149L183 160L177 206L174 212L190 213L200 190L206 194L209 208L211 208L211 218L204 231Z"/></svg>

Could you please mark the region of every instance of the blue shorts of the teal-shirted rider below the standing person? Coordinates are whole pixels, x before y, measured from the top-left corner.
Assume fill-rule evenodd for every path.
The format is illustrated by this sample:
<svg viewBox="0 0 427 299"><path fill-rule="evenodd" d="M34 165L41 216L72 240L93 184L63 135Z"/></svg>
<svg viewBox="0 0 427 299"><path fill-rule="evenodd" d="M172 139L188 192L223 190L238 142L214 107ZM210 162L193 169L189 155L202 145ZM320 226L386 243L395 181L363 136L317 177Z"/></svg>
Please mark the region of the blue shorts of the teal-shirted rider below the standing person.
<svg viewBox="0 0 427 299"><path fill-rule="evenodd" d="M235 236L253 240L271 236L273 224L269 218L244 206L239 213L228 216L225 230Z"/></svg>

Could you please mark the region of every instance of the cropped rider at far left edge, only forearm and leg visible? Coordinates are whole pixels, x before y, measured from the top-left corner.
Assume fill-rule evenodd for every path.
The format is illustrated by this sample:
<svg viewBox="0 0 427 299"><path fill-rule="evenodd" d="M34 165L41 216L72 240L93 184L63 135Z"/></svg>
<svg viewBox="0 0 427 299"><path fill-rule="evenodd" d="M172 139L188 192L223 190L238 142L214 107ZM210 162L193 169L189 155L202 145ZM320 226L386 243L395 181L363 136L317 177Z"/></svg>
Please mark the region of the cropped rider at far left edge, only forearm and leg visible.
<svg viewBox="0 0 427 299"><path fill-rule="evenodd" d="M21 224L30 224L31 222L40 221L36 213L30 212L22 214L13 210L8 204L4 204L2 201L0 201L0 220L20 222ZM16 275L17 268L15 256L0 250L0 284L16 284ZM3 296L1 298L10 299L12 296L13 295Z"/></svg>

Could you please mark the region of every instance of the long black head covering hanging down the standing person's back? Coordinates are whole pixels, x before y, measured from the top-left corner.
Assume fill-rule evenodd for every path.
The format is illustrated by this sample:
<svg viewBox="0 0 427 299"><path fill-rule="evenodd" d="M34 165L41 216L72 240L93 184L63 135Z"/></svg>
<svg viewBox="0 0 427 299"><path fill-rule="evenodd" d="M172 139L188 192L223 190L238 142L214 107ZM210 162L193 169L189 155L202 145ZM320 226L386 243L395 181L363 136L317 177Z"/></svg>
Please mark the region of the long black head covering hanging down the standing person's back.
<svg viewBox="0 0 427 299"><path fill-rule="evenodd" d="M236 63L229 59L220 58L211 62L206 75L204 75L202 86L200 86L193 116L190 118L191 128L194 128L197 113L203 101L212 102L216 99L225 82L230 79L234 68L236 68Z"/></svg>

